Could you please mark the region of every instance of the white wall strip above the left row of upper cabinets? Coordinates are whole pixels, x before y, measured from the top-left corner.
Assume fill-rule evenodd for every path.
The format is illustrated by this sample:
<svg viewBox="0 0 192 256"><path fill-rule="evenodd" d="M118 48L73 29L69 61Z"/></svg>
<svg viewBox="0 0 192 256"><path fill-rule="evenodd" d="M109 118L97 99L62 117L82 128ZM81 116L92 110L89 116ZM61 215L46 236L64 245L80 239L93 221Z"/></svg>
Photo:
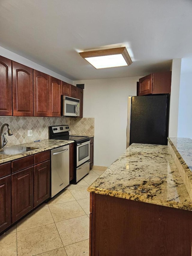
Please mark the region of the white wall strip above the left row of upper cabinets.
<svg viewBox="0 0 192 256"><path fill-rule="evenodd" d="M19 62L23 65L26 65L27 67L29 68L33 68L33 69L36 69L38 71L41 71L41 72L44 72L45 74L48 74L52 77L55 77L55 78L58 78L66 83L70 83L70 84L73 84L73 81L68 79L67 77L63 77L55 72L53 72L52 70L49 70L48 68L45 68L35 62L32 62L31 60L29 59L26 59L16 53L13 53L3 47L0 47L0 56L3 56L7 59L11 59L13 61L16 61L16 62Z"/></svg>

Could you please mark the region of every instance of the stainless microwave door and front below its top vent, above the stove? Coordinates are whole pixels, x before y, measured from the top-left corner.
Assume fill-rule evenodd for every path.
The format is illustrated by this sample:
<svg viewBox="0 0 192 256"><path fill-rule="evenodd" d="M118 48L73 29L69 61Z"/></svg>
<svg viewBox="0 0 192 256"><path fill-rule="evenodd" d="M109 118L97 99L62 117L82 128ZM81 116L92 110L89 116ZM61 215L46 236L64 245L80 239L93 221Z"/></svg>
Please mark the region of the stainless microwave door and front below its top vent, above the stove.
<svg viewBox="0 0 192 256"><path fill-rule="evenodd" d="M64 100L63 115L64 116L79 116L79 103L75 101Z"/></svg>

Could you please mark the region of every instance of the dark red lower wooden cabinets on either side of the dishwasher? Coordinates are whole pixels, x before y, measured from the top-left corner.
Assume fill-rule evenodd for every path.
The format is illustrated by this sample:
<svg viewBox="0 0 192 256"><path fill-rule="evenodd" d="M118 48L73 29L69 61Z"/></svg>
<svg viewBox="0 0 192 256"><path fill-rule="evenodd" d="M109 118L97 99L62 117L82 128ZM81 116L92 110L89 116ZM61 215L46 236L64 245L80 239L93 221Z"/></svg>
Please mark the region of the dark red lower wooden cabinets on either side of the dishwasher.
<svg viewBox="0 0 192 256"><path fill-rule="evenodd" d="M50 150L0 164L0 233L49 197Z"/></svg>

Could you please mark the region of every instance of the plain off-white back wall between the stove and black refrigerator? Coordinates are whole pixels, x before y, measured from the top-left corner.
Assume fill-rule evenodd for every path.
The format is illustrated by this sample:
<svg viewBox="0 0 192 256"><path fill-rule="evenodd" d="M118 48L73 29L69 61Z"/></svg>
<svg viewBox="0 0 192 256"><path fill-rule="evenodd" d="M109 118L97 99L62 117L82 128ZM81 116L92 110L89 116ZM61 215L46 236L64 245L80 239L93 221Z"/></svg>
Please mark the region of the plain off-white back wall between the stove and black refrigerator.
<svg viewBox="0 0 192 256"><path fill-rule="evenodd" d="M83 117L95 117L94 165L110 166L125 151L128 96L139 78L75 81L85 83Z"/></svg>

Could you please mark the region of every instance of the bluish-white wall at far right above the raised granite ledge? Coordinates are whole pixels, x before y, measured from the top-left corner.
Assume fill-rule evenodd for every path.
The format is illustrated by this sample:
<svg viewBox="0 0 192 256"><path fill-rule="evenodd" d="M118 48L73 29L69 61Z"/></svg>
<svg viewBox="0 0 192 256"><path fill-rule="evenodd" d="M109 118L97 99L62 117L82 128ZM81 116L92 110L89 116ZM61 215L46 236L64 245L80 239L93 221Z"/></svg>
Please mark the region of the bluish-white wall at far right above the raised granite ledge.
<svg viewBox="0 0 192 256"><path fill-rule="evenodd" d="M179 90L178 137L192 139L192 58L183 58Z"/></svg>

